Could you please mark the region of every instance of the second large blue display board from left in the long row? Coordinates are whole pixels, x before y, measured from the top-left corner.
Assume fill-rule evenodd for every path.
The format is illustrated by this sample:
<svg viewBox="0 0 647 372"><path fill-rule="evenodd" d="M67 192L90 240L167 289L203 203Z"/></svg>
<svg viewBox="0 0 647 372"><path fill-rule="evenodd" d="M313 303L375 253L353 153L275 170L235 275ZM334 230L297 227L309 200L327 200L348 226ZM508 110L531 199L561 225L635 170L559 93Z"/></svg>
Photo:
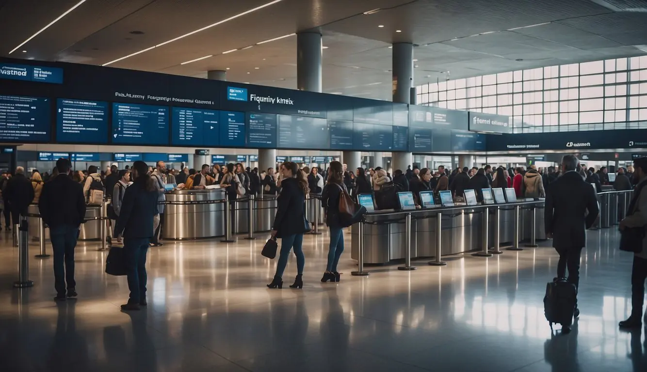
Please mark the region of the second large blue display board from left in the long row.
<svg viewBox="0 0 647 372"><path fill-rule="evenodd" d="M56 141L108 143L108 103L57 99Z"/></svg>

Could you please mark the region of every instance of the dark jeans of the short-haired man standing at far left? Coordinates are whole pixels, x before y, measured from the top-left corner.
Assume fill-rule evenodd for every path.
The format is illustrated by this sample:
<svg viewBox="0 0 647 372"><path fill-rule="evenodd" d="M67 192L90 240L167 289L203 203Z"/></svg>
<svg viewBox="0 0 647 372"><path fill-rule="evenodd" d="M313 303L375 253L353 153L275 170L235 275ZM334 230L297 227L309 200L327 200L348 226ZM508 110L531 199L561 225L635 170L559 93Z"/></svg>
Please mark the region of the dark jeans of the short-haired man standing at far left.
<svg viewBox="0 0 647 372"><path fill-rule="evenodd" d="M54 251L54 288L59 295L67 289L74 289L74 247L76 247L78 227L61 225L50 227L49 236Z"/></svg>

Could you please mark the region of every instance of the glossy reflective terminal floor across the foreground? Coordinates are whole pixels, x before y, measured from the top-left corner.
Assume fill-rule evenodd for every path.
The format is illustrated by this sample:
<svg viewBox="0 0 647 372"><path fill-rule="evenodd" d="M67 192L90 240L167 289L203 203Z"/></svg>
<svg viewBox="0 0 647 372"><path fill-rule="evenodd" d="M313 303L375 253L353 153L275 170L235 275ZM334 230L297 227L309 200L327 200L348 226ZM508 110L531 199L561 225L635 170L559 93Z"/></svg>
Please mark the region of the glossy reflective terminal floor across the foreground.
<svg viewBox="0 0 647 372"><path fill-rule="evenodd" d="M588 233L573 332L551 334L545 283L557 256L537 249L459 255L445 267L356 269L322 284L327 234L304 240L302 290L267 289L264 240L167 242L148 255L148 309L122 313L126 278L104 273L97 243L76 250L78 300L54 303L52 259L33 258L36 285L14 289L17 249L0 233L0 371L647 371L630 311L631 254L614 229ZM346 242L348 244L349 237ZM50 250L50 247L48 247Z"/></svg>

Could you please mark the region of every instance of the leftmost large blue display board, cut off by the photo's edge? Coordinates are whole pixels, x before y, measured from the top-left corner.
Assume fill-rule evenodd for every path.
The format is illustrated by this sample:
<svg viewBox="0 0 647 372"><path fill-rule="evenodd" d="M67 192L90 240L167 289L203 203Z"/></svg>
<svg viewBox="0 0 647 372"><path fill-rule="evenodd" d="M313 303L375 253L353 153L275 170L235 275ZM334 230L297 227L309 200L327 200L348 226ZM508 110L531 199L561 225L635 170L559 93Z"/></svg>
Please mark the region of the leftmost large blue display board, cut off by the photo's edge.
<svg viewBox="0 0 647 372"><path fill-rule="evenodd" d="M49 142L50 122L49 99L0 96L0 141Z"/></svg>

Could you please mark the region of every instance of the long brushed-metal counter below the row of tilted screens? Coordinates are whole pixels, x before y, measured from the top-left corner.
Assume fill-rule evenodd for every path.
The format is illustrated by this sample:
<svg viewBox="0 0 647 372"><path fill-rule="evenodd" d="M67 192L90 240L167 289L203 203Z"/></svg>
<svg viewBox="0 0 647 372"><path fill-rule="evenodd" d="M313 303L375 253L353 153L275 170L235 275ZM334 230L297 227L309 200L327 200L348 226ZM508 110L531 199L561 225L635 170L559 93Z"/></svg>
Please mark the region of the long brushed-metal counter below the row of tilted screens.
<svg viewBox="0 0 647 372"><path fill-rule="evenodd" d="M436 218L441 218L441 256L483 249L483 213L488 212L488 243L494 244L495 216L499 208L500 242L514 240L514 208L520 206L520 238L529 239L532 209L535 214L536 238L545 239L543 232L544 200L520 200L516 203L490 205L460 205L416 209L415 211L369 212L364 219L364 263L388 263L405 257L405 216L411 213L411 257L435 256ZM511 214L511 217L510 217ZM358 259L358 225L351 227L351 257ZM505 244L501 244L505 247Z"/></svg>

